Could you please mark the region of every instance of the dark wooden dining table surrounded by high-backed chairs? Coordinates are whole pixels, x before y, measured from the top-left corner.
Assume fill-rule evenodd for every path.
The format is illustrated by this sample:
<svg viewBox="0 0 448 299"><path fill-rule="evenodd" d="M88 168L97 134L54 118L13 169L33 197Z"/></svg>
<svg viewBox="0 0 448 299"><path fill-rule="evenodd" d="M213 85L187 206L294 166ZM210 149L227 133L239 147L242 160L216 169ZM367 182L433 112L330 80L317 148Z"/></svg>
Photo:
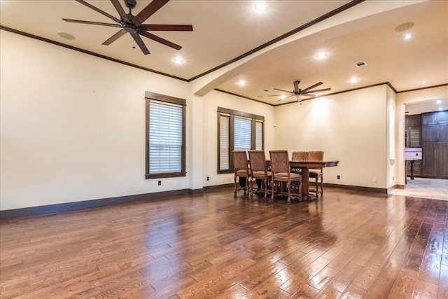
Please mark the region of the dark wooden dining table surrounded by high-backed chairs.
<svg viewBox="0 0 448 299"><path fill-rule="evenodd" d="M338 160L332 161L312 161L312 160L300 160L300 161L289 161L290 171L294 173L299 173L302 170L302 197L306 200L314 200L317 197L315 195L309 194L309 169L318 169L325 167L336 167ZM266 160L266 165L271 166L271 161Z"/></svg>

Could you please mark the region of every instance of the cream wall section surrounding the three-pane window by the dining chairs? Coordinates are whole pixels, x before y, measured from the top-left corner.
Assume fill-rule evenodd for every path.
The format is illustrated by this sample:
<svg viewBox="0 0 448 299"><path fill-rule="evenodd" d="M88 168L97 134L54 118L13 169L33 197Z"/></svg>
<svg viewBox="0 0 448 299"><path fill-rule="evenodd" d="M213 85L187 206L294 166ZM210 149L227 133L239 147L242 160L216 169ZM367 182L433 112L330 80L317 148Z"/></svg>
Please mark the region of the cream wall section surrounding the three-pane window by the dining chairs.
<svg viewBox="0 0 448 299"><path fill-rule="evenodd" d="M204 105L204 186L233 183L233 174L217 174L218 165L218 106L265 117L265 153L274 148L274 106L235 97L213 90L202 97ZM207 181L207 176L210 181Z"/></svg>

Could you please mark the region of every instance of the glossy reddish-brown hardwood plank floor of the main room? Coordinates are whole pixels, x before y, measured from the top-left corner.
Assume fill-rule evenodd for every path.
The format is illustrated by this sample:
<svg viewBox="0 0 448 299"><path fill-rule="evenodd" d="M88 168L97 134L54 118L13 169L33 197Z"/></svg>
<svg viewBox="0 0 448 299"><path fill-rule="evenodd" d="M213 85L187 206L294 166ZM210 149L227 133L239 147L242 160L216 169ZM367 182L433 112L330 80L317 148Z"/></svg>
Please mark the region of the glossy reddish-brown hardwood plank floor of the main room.
<svg viewBox="0 0 448 299"><path fill-rule="evenodd" d="M226 189L3 220L0 297L448 298L447 204Z"/></svg>

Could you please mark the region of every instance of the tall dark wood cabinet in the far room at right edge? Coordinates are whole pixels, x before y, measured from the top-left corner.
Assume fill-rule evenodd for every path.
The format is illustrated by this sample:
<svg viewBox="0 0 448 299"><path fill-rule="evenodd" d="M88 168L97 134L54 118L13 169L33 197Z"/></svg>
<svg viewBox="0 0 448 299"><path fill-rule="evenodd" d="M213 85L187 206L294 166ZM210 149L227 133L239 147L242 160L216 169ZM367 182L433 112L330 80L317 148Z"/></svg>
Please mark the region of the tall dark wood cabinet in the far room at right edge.
<svg viewBox="0 0 448 299"><path fill-rule="evenodd" d="M448 111L421 114L421 175L448 179Z"/></svg>

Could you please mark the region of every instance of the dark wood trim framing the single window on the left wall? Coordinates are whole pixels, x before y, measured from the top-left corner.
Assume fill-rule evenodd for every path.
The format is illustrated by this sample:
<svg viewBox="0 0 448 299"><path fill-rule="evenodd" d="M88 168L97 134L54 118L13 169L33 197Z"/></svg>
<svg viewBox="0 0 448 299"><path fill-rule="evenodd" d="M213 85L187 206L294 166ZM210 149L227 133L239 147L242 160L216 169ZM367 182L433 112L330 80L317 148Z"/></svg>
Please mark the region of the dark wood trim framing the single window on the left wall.
<svg viewBox="0 0 448 299"><path fill-rule="evenodd" d="M146 92L146 179L161 179L169 177L186 176L186 100L177 97L170 97L168 95L160 95L155 92ZM167 104L177 104L182 107L182 146L181 146L181 172L167 172L167 173L149 173L149 105L151 99Z"/></svg>

